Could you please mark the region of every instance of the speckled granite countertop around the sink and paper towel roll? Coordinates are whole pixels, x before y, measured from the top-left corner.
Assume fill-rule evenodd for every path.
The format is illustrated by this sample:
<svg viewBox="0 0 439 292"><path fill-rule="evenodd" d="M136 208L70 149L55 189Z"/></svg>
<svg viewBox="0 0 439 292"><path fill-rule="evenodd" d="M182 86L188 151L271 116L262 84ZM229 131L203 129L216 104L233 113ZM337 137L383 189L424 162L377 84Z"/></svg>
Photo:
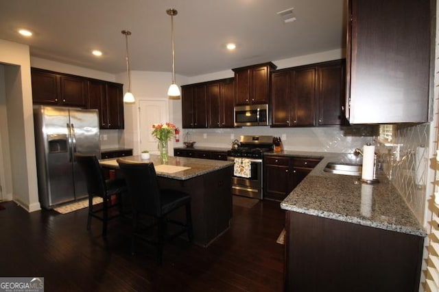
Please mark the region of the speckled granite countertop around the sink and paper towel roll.
<svg viewBox="0 0 439 292"><path fill-rule="evenodd" d="M379 173L379 183L367 185L359 176L324 172L329 162L361 163L351 154L285 151L270 155L323 157L308 176L281 202L288 211L316 215L425 237L427 233L388 178Z"/></svg>

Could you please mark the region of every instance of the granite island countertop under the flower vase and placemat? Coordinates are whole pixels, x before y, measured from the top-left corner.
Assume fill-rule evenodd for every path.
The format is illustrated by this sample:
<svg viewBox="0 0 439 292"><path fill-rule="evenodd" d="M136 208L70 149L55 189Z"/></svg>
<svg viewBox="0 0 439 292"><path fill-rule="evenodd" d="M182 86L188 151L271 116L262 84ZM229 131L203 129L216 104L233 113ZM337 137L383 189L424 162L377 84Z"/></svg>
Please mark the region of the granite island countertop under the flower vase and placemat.
<svg viewBox="0 0 439 292"><path fill-rule="evenodd" d="M154 166L163 165L161 159L158 155L150 155L151 159L142 160L140 155L126 156L121 159L134 162L152 162ZM107 168L119 168L116 159L101 159L99 160L102 166ZM174 178L180 181L185 181L189 178L194 178L215 170L220 170L222 168L228 168L233 166L233 161L219 161L211 159L198 159L189 157L169 157L169 161L165 163L166 165L182 166L189 168L187 170L182 170L174 173L159 172L156 170L157 176Z"/></svg>

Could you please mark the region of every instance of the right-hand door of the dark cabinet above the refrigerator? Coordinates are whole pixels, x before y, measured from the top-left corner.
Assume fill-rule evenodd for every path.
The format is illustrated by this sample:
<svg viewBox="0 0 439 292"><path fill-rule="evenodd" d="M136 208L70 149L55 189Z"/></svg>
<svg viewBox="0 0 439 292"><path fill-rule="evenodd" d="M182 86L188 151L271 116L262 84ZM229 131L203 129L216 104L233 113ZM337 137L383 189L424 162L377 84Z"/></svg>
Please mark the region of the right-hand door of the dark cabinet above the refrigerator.
<svg viewBox="0 0 439 292"><path fill-rule="evenodd" d="M85 79L62 75L59 79L61 104L73 107L86 107Z"/></svg>

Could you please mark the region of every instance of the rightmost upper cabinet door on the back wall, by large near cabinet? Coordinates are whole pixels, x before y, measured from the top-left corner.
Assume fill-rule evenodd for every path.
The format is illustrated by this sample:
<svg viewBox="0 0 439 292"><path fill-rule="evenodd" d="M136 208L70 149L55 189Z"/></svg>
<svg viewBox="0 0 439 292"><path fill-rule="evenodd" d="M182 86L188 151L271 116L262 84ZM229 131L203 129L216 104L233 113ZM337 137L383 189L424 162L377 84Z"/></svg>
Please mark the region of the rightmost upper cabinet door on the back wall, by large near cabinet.
<svg viewBox="0 0 439 292"><path fill-rule="evenodd" d="M318 67L318 124L333 126L344 124L344 61Z"/></svg>

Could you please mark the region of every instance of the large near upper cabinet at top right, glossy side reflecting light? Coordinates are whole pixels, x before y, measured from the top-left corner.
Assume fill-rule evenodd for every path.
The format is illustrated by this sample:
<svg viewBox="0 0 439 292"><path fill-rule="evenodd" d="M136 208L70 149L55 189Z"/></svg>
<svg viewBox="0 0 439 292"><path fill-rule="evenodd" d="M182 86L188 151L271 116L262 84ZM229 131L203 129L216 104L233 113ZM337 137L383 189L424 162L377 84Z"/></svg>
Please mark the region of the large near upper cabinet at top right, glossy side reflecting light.
<svg viewBox="0 0 439 292"><path fill-rule="evenodd" d="M432 0L349 0L346 118L351 124L427 122Z"/></svg>

